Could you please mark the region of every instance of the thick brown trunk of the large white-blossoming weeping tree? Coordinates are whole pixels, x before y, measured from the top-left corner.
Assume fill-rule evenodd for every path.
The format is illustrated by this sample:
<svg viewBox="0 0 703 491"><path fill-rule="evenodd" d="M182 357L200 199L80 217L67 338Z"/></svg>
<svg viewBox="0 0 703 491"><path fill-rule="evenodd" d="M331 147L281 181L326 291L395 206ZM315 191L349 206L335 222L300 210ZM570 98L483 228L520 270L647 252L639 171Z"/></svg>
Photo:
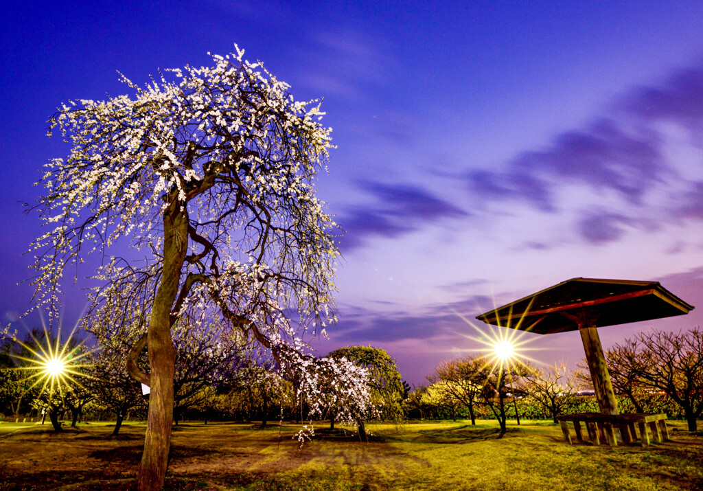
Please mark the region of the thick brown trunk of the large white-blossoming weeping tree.
<svg viewBox="0 0 703 491"><path fill-rule="evenodd" d="M139 491L160 490L166 478L174 411L176 350L171 336L171 310L179 291L188 250L188 213L172 192L164 215L164 262L148 329L150 366L149 416L144 453L137 473ZM183 203L185 206L185 203Z"/></svg>

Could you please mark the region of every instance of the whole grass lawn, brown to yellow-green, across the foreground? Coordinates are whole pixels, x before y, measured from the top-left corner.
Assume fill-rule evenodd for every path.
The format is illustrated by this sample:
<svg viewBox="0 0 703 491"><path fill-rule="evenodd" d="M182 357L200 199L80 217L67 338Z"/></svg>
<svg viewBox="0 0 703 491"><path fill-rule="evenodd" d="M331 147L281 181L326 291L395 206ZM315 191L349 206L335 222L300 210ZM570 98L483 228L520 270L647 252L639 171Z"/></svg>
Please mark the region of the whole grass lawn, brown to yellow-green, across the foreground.
<svg viewBox="0 0 703 491"><path fill-rule="evenodd" d="M0 423L0 426L8 423ZM494 421L369 425L361 444L323 431L302 448L299 426L182 424L174 430L166 490L695 490L703 489L703 437L669 421L673 441L647 449L567 445L558 426ZM127 490L145 425L86 423L0 431L0 490Z"/></svg>

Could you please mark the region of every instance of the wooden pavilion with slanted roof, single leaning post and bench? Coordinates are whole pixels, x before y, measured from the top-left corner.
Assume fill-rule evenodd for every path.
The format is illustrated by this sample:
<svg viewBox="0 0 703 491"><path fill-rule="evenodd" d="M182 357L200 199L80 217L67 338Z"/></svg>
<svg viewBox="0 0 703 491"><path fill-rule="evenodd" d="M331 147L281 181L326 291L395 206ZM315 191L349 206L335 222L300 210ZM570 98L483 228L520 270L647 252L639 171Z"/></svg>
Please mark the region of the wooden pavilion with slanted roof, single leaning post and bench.
<svg viewBox="0 0 703 491"><path fill-rule="evenodd" d="M481 314L477 319L486 324L538 334L578 330L600 408L600 414L583 414L582 420L586 423L592 441L598 441L598 433L594 431L594 434L591 434L591 424L595 428L600 423L600 434L604 435L605 432L604 436L608 442L616 445L612 432L613 424L620 428L621 438L627 442L635 438L634 423L640 423L640 433L643 433L645 423L657 426L658 422L655 437L659 435L659 431L666 431L663 421L666 415L648 415L663 416L658 419L647 419L644 417L646 415L642 418L619 417L597 328L688 314L693 308L666 290L658 281L574 278ZM576 437L581 440L579 418L565 418L562 421L565 438L570 442L565 421L574 423ZM631 431L628 431L628 428ZM646 433L640 438L645 445Z"/></svg>

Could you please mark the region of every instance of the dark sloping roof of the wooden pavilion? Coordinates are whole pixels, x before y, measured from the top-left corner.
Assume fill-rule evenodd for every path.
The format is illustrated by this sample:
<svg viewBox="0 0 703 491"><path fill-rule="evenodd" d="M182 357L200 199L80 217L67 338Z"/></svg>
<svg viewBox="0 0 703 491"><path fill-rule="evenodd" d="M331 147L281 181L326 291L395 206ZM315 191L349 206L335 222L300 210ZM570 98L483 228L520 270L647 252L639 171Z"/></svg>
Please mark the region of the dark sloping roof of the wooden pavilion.
<svg viewBox="0 0 703 491"><path fill-rule="evenodd" d="M659 281L573 278L476 318L486 324L551 334L576 331L579 322L614 326L688 314L693 308Z"/></svg>

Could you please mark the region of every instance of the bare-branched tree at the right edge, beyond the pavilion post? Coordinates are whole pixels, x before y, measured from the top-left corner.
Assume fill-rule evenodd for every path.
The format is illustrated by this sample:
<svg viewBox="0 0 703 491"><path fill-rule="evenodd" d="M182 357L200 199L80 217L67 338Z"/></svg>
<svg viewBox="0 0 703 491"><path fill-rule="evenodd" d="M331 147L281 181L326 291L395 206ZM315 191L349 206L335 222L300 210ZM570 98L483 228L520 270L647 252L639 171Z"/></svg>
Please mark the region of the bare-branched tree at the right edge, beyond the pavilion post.
<svg viewBox="0 0 703 491"><path fill-rule="evenodd" d="M614 350L622 371L671 397L683 409L688 430L696 431L703 412L703 331L640 333Z"/></svg>

